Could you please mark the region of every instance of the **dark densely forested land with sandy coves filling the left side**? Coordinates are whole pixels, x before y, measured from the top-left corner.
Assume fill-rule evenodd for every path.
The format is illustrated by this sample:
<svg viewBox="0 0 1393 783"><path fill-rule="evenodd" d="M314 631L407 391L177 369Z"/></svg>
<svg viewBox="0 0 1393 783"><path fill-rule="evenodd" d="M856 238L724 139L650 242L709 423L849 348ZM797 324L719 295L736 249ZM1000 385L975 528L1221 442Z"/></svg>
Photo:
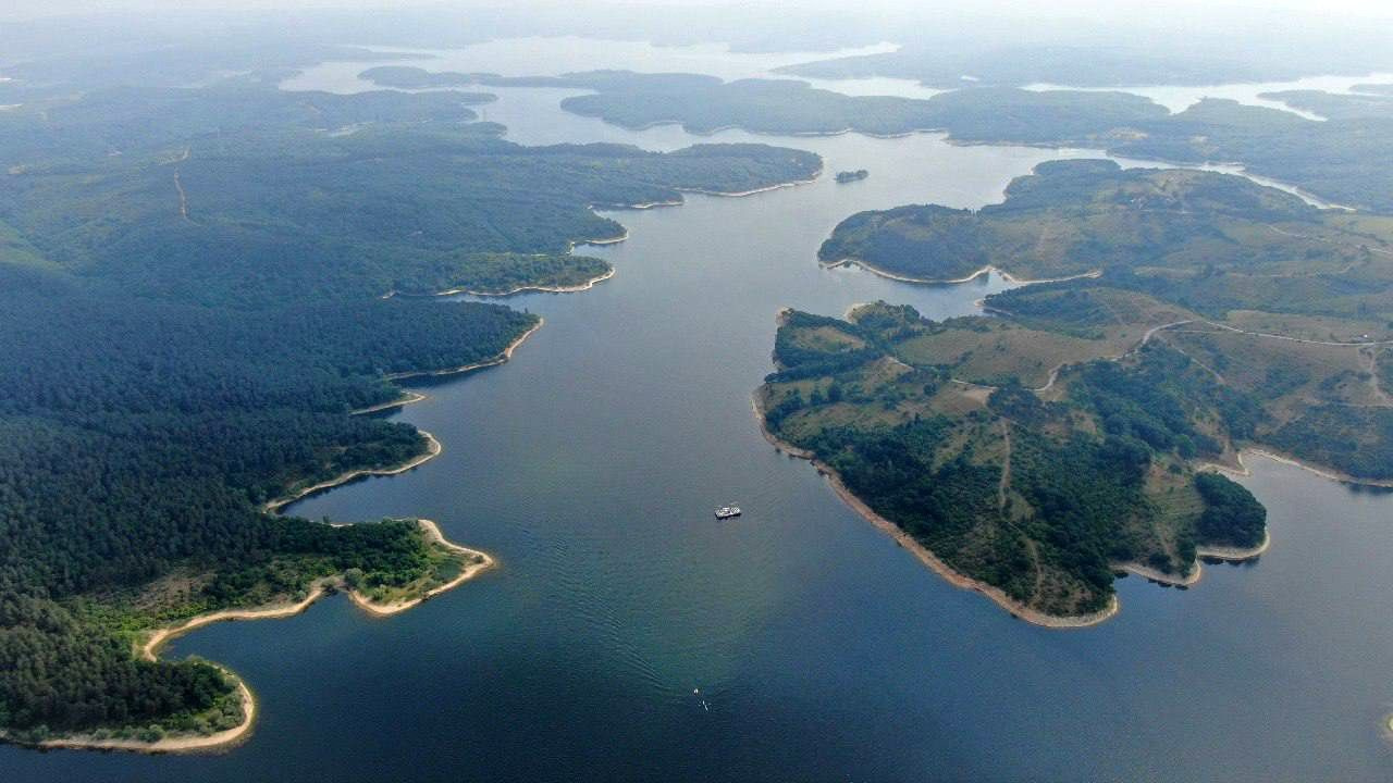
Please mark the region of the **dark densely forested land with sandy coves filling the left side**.
<svg viewBox="0 0 1393 783"><path fill-rule="evenodd" d="M245 734L234 674L159 660L203 619L329 589L394 612L488 556L417 520L276 513L440 444L351 415L539 326L411 295L584 288L592 206L807 180L763 145L525 148L458 92L36 92L0 113L0 736L189 750ZM357 520L350 520L358 522Z"/></svg>

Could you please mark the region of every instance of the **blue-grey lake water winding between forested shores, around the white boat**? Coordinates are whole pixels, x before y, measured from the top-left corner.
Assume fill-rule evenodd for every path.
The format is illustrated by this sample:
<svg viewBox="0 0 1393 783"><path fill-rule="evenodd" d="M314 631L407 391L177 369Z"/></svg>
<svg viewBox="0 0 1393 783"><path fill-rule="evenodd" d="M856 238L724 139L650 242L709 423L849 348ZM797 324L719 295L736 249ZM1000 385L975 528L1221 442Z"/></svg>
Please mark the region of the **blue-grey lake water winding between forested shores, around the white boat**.
<svg viewBox="0 0 1393 783"><path fill-rule="evenodd" d="M490 107L510 138L699 141L571 117L538 93ZM1116 619L1052 631L946 584L759 435L749 396L772 369L780 308L839 315L883 298L943 318L1003 287L822 269L816 248L839 220L910 202L981 206L1042 160L1096 153L929 134L759 138L871 178L610 213L630 240L582 251L613 262L612 280L511 298L546 318L514 359L423 387L428 401L396 414L442 440L439 458L290 509L435 518L499 568L391 619L338 596L177 639L167 655L223 662L258 692L256 730L231 752L0 747L0 776L1393 776L1380 730L1393 712L1393 495L1254 460L1243 482L1273 536L1261 561L1206 566L1188 591L1127 578ZM745 515L713 521L727 502Z"/></svg>

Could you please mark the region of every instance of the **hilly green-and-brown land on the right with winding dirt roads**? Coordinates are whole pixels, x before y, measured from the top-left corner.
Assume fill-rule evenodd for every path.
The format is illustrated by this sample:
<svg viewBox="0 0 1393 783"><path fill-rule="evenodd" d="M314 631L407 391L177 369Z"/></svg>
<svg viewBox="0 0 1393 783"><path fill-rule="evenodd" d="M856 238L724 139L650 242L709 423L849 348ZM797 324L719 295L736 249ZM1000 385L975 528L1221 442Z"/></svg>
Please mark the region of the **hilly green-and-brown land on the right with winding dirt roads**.
<svg viewBox="0 0 1393 783"><path fill-rule="evenodd" d="M1055 162L976 212L857 215L823 245L897 276L1066 277L929 322L788 312L756 394L776 442L953 578L1043 624L1110 612L1113 570L1188 584L1265 546L1209 465L1273 451L1393 482L1393 219L1248 180Z"/></svg>

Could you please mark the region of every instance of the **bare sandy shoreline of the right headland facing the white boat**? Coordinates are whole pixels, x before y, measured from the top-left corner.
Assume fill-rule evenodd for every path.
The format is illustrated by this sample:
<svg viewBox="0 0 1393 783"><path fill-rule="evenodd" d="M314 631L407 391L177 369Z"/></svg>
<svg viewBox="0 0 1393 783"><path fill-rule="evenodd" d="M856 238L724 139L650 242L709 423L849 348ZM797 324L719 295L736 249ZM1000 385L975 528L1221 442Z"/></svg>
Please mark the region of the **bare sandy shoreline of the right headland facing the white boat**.
<svg viewBox="0 0 1393 783"><path fill-rule="evenodd" d="M759 432L765 436L765 440L768 440L775 449L788 454L790 457L797 457L800 460L809 461L818 470L818 472L827 479L827 483L832 486L833 492L837 493L837 497L840 497L843 503L850 506L853 511L858 513L862 518L875 525L876 529L894 539L896 543L898 543L903 549L914 555L921 563L928 566L929 570L942 577L943 581L949 582L950 585L958 589L968 589L972 592L978 592L982 596L990 599L1002 609L1004 609L1013 617L1018 620L1025 620L1027 623L1032 626L1039 626L1042 628L1057 628L1057 630L1087 628L1089 626L1096 626L1105 620L1112 619L1121 609L1121 602L1117 599L1117 595L1114 594L1106 607L1089 614L1068 614L1068 616L1046 614L1036 609L1031 609L1029 606L1025 606L1024 603L1006 595L1006 592L1002 591L1000 588L992 587L986 582L974 580L972 577L958 573L951 566L940 560L939 556L933 555L933 552L929 550L926 546L915 541L914 536L904 532L904 529L901 529L900 525L896 525L890 520L886 520L880 514L875 513L869 506L865 504L865 502L853 495L851 490L847 489L844 483L841 483L841 476L839 476L837 472L832 470L830 465L827 465L816 456L814 456L812 451L808 451L807 449L798 449L797 446L779 439L777 435L770 432L769 428L765 426L758 390L751 397L751 410L755 415L755 419L759 422Z"/></svg>

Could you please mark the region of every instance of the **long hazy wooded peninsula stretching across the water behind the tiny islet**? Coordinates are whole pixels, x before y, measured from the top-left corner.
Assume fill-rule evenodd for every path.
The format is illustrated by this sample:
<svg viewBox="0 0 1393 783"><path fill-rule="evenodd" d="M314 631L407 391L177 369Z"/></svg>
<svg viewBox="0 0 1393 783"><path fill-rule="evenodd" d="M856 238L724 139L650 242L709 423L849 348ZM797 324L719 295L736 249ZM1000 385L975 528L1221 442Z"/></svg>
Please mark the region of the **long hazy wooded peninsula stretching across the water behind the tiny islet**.
<svg viewBox="0 0 1393 783"><path fill-rule="evenodd" d="M415 78L428 77L446 74ZM1316 121L1233 100L1205 99L1172 114L1126 92L1031 91L976 82L924 100L848 96L794 79L723 82L695 74L454 77L483 85L589 89L593 93L567 98L561 106L625 128L680 123L698 134L729 127L763 134L943 131L961 144L1087 146L1177 163L1237 163L1334 203L1393 212L1393 157L1386 153L1393 146L1393 96L1378 91L1272 95L1328 117Z"/></svg>

